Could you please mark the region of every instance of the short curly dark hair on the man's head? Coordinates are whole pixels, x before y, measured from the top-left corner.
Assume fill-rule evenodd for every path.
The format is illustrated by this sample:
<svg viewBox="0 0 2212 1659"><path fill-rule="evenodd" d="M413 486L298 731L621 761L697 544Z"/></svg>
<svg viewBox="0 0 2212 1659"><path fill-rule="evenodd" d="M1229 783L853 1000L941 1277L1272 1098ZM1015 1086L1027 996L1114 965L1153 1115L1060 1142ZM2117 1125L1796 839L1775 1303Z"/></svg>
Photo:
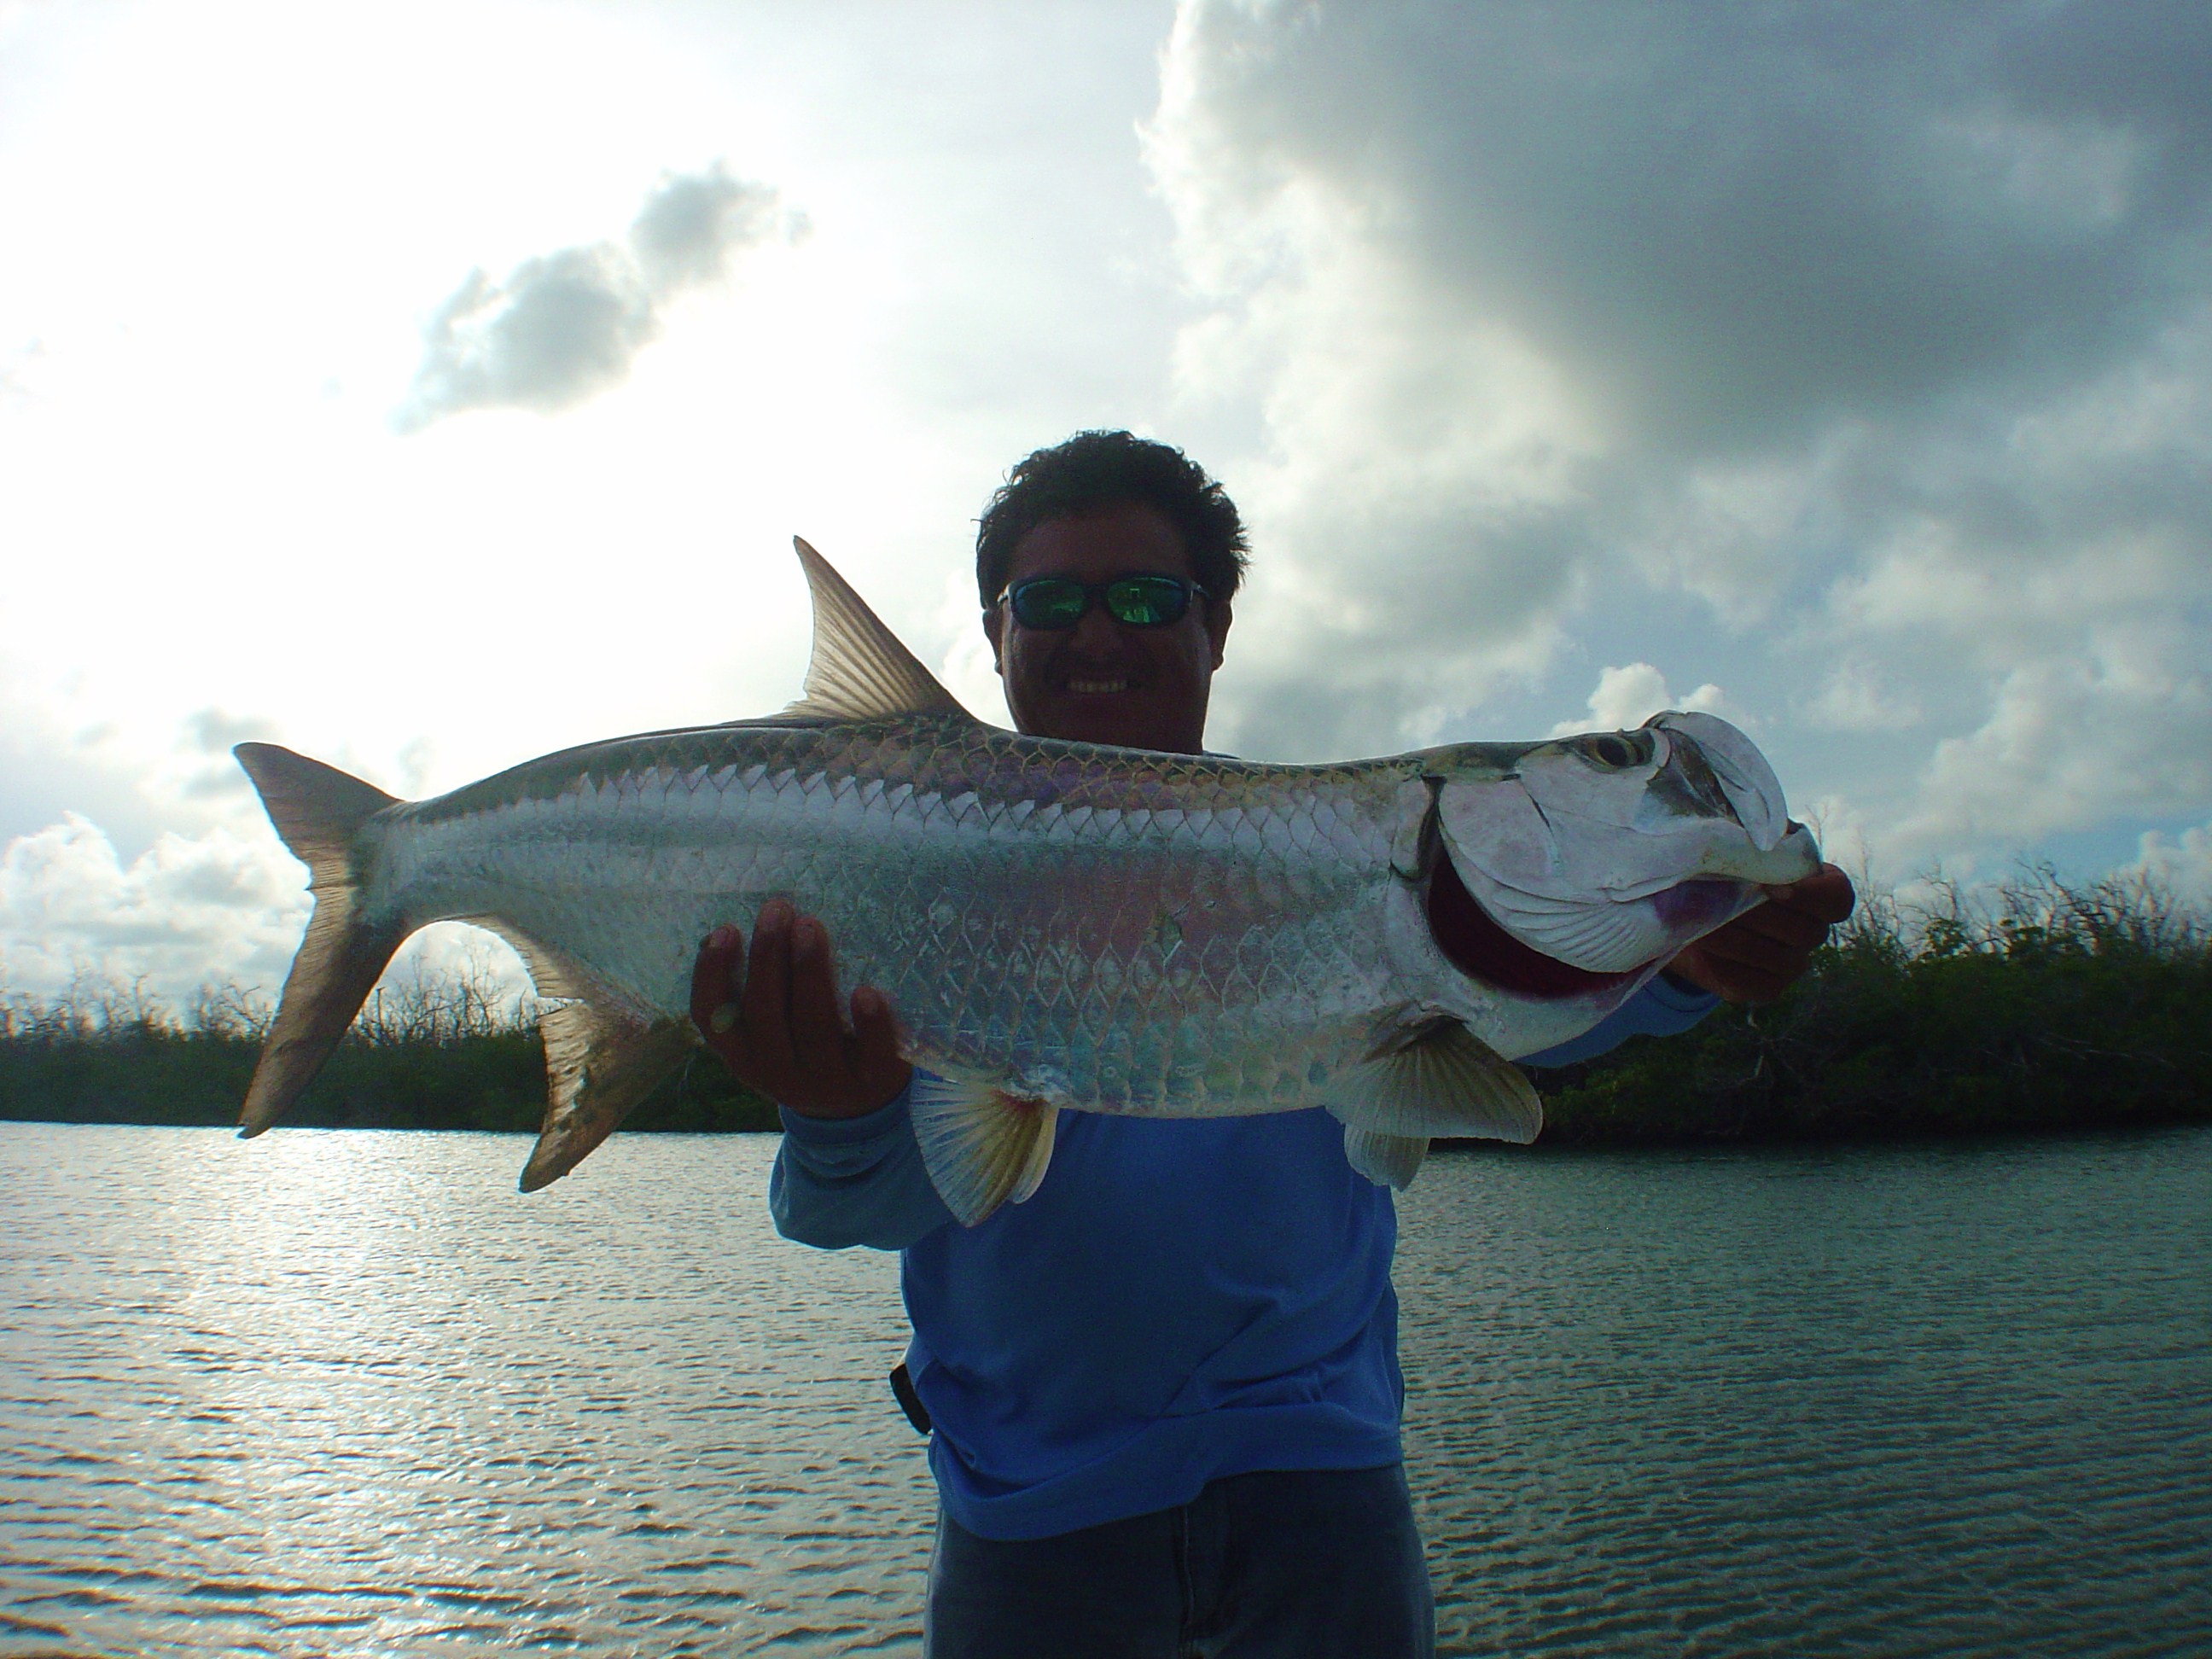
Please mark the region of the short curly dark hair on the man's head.
<svg viewBox="0 0 2212 1659"><path fill-rule="evenodd" d="M982 608L998 604L1013 568L1013 549L1051 518L1095 513L1135 502L1175 524L1190 553L1190 573L1217 599L1243 582L1245 535L1237 502L1199 462L1172 445L1126 431L1077 431L1037 449L1006 473L975 520L975 591Z"/></svg>

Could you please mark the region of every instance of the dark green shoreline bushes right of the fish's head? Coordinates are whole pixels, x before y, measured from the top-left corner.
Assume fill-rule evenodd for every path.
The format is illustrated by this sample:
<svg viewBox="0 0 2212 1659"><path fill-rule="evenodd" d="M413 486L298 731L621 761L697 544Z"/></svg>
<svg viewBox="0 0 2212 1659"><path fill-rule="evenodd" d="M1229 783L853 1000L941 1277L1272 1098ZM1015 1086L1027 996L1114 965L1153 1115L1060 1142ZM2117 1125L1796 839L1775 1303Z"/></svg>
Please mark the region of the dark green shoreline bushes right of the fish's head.
<svg viewBox="0 0 2212 1659"><path fill-rule="evenodd" d="M2212 1121L2212 931L2152 883L2048 865L1876 889L1772 1006L1531 1077L1553 1144Z"/></svg>

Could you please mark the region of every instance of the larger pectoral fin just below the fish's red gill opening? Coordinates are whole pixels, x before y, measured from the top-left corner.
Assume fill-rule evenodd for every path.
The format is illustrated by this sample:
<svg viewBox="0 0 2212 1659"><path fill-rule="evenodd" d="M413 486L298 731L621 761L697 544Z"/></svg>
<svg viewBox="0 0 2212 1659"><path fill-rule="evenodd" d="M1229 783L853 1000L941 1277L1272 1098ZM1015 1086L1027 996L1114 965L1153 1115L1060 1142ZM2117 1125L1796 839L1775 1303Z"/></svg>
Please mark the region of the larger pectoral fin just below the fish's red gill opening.
<svg viewBox="0 0 2212 1659"><path fill-rule="evenodd" d="M1526 1144L1544 1128L1544 1102L1522 1068L1458 1020L1420 1026L1336 1077L1329 1110L1345 1128L1420 1141Z"/></svg>

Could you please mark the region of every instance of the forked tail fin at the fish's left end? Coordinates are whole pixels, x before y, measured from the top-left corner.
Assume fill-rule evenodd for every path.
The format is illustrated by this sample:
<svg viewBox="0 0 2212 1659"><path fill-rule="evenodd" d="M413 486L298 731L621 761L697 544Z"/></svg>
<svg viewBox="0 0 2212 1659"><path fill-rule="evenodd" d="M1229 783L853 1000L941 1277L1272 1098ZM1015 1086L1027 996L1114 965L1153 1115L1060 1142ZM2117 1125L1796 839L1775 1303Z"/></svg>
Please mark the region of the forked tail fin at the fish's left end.
<svg viewBox="0 0 2212 1659"><path fill-rule="evenodd" d="M361 825L398 805L398 796L274 743L239 743L232 754L261 792L283 845L307 865L307 891L314 894L307 936L292 958L239 1110L239 1135L252 1137L323 1068L409 929L369 922L354 867Z"/></svg>

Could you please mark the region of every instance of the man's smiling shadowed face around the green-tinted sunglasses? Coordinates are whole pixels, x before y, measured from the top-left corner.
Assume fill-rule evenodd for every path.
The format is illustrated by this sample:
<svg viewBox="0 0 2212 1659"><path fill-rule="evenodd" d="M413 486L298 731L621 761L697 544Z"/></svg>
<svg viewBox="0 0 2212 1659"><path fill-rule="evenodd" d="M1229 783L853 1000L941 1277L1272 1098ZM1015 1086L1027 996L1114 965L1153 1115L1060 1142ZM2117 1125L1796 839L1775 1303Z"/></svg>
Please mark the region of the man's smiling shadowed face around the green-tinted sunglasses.
<svg viewBox="0 0 2212 1659"><path fill-rule="evenodd" d="M1048 518L1013 549L1006 584L1037 575L1113 582L1121 575L1194 580L1181 533L1150 507L1117 504ZM1197 754L1206 699L1230 633L1223 599L1192 595L1166 628L1130 628L1093 604L1073 628L1024 628L1004 604L984 615L1006 681L1015 730L1077 743L1126 743Z"/></svg>

